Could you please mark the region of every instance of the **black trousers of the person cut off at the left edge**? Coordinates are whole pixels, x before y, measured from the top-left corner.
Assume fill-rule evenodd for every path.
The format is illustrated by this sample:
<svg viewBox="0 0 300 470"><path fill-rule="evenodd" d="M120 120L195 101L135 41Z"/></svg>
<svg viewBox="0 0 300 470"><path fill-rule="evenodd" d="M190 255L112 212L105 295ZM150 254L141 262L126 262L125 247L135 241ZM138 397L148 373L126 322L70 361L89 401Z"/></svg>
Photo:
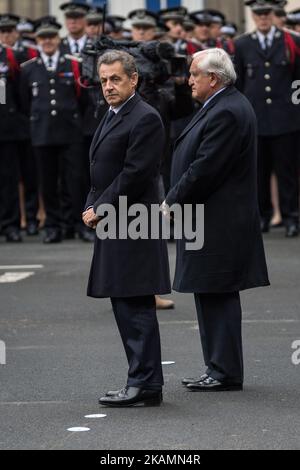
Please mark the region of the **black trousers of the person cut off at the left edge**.
<svg viewBox="0 0 300 470"><path fill-rule="evenodd" d="M18 148L0 142L0 225L4 234L20 228Z"/></svg>

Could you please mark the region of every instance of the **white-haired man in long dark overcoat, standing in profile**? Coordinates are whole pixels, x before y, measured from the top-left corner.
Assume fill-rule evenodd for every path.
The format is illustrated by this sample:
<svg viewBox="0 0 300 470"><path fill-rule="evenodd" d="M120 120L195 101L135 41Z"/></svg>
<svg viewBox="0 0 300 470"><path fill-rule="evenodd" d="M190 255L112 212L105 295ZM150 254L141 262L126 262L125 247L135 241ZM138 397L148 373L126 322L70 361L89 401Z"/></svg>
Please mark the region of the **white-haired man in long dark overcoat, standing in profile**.
<svg viewBox="0 0 300 470"><path fill-rule="evenodd" d="M168 206L204 204L204 247L177 246L174 289L194 293L206 373L191 390L243 388L240 291L269 285L257 202L254 111L233 86L227 53L195 55L190 85L202 109L176 142ZM167 210L164 204L164 210ZM196 213L196 212L195 212Z"/></svg>

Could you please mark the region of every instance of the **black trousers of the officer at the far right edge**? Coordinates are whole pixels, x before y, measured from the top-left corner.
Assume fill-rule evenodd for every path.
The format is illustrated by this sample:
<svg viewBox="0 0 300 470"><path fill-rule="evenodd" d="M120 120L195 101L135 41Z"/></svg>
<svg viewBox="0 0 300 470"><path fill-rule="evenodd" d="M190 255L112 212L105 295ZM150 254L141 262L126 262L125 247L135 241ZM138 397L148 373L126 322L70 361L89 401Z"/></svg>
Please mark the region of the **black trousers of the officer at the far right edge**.
<svg viewBox="0 0 300 470"><path fill-rule="evenodd" d="M285 225L299 221L297 134L258 139L258 196L261 217L270 221L271 174L278 179L279 204Z"/></svg>

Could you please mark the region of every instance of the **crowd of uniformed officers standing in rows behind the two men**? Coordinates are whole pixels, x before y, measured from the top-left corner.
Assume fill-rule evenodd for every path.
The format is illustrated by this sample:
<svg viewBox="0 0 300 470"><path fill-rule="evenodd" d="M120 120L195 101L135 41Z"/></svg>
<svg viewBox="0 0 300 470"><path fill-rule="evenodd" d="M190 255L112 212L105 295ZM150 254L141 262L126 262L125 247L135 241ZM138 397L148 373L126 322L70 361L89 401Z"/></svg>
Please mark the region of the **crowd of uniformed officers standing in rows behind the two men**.
<svg viewBox="0 0 300 470"><path fill-rule="evenodd" d="M237 87L258 118L258 188L261 228L284 224L287 237L299 234L300 107L292 84L300 80L300 10L286 1L245 2L256 30L243 32L216 10L188 12L139 9L127 18L78 2L61 5L66 37L53 16L37 20L0 15L0 79L6 104L0 105L0 230L9 243L22 242L22 230L43 243L95 233L82 223L91 187L89 149L107 112L100 86L83 87L82 51L105 34L117 41L167 41L187 63L198 51L222 48L238 72ZM172 146L188 124L195 103L188 77L141 84L140 94L161 114L167 143L161 163L162 201L169 190ZM141 156L142 158L142 156Z"/></svg>

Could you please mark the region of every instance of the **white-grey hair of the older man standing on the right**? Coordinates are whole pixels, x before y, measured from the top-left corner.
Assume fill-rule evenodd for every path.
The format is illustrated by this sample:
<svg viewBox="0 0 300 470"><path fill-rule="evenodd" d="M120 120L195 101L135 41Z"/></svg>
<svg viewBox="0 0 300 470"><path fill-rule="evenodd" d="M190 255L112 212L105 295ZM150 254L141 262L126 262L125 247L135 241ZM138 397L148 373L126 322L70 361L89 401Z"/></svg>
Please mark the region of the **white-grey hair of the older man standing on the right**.
<svg viewBox="0 0 300 470"><path fill-rule="evenodd" d="M229 86L236 82L233 62L223 49L206 49L194 54L193 58L202 72L216 74L223 85Z"/></svg>

